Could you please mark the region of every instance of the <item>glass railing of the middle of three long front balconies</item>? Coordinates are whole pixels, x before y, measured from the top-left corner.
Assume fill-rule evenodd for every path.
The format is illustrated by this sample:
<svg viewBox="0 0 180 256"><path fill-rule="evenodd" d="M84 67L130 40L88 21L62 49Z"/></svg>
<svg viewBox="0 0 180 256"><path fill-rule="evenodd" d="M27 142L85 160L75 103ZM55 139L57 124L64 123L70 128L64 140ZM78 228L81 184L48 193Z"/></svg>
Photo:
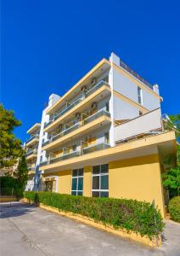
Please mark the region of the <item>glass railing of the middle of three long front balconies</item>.
<svg viewBox="0 0 180 256"><path fill-rule="evenodd" d="M47 145L48 143L52 143L53 141L59 139L59 137L63 137L67 134L69 134L71 131L76 131L78 128L82 127L83 125L87 125L88 123L92 122L95 119L98 119L100 116L108 116L110 117L110 113L105 111L104 109L99 110L97 113L93 113L86 119L84 119L82 122L77 123L76 125L70 126L70 128L66 129L65 131L61 131L56 136L52 137L51 140L48 140L47 142L42 143L42 147Z"/></svg>

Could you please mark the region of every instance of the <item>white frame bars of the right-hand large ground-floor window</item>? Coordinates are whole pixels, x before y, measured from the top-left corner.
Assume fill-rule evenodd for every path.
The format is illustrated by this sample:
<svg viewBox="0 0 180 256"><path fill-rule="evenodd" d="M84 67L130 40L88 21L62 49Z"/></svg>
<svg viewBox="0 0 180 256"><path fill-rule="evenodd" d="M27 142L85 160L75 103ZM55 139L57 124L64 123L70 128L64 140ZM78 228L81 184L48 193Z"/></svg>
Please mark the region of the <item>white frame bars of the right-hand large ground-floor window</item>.
<svg viewBox="0 0 180 256"><path fill-rule="evenodd" d="M101 172L102 171L102 166L105 166L107 165L108 166L108 172ZM93 174L93 168L92 168L92 197L95 197L93 196L93 192L98 192L99 195L98 197L104 197L104 196L101 196L101 192L105 192L105 193L108 193L108 196L109 197L109 164L105 164L105 165L98 165L99 166L99 173L96 173L96 174ZM93 166L95 167L95 166ZM108 189L101 189L101 177L103 176L108 176ZM93 189L93 177L99 177L99 186L98 186L98 189Z"/></svg>

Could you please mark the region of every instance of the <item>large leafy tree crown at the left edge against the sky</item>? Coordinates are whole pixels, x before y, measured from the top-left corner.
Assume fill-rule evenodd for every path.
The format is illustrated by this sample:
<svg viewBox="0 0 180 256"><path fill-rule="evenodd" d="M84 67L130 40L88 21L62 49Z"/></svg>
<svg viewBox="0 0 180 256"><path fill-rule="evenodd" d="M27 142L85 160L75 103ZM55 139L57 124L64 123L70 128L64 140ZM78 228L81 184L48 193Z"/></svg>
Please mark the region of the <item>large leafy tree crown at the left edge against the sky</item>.
<svg viewBox="0 0 180 256"><path fill-rule="evenodd" d="M23 154L20 139L14 137L14 128L21 125L14 117L14 111L0 104L0 168L14 166Z"/></svg>

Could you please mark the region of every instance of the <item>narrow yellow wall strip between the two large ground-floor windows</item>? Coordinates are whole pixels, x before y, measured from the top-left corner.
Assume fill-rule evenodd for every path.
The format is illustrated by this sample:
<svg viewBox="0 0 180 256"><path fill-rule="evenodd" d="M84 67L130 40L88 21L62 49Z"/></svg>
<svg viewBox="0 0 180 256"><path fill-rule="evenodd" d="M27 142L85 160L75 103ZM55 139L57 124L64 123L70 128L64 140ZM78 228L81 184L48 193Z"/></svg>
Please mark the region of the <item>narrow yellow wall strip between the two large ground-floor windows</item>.
<svg viewBox="0 0 180 256"><path fill-rule="evenodd" d="M84 196L92 195L92 166L84 167L83 195Z"/></svg>

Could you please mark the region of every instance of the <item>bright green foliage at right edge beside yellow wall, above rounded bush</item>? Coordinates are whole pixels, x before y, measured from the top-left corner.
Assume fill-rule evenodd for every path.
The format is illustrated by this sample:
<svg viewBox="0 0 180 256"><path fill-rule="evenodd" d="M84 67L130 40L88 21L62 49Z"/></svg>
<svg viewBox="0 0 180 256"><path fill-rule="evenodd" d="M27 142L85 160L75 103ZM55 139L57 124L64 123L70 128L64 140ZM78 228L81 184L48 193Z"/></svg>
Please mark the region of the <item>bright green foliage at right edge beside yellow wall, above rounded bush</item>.
<svg viewBox="0 0 180 256"><path fill-rule="evenodd" d="M180 193L180 146L177 145L177 166L162 174L163 185L169 190L170 198Z"/></svg>

